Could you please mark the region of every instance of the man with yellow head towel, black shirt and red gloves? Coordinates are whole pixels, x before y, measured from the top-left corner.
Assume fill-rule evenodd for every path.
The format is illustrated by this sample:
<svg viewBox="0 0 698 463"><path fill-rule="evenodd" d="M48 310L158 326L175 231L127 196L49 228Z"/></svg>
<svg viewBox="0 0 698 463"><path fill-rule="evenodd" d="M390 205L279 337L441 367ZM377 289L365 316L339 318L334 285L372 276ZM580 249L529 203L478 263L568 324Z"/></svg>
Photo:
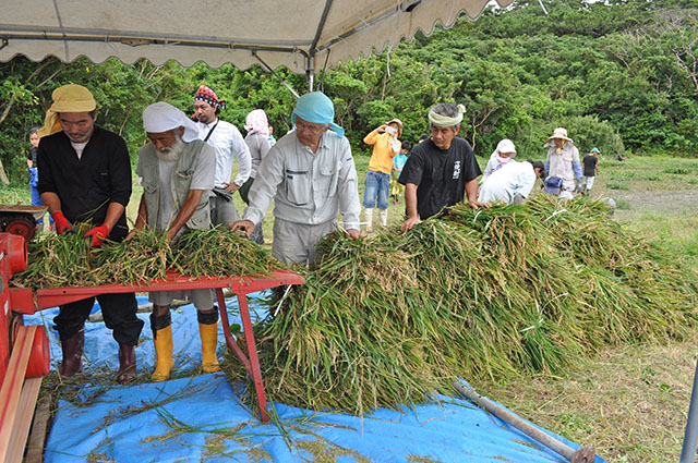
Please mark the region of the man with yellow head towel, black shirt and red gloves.
<svg viewBox="0 0 698 463"><path fill-rule="evenodd" d="M85 237L91 247L105 239L127 236L125 207L131 196L131 162L119 135L95 125L97 105L81 85L53 90L37 148L38 191L53 218L56 233L72 231L77 222L94 226ZM135 350L143 321L136 317L133 293L97 296L105 325L119 343L119 382L135 377ZM59 373L72 376L82 368L85 320L95 297L64 304L53 319L63 362Z"/></svg>

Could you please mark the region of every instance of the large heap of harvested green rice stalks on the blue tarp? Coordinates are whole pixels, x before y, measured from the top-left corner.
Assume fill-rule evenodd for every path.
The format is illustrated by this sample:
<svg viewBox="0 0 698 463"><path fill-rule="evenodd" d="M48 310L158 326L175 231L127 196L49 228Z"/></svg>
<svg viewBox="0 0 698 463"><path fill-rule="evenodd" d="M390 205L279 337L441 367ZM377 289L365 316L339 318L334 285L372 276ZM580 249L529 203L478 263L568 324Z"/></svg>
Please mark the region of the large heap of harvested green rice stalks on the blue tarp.
<svg viewBox="0 0 698 463"><path fill-rule="evenodd" d="M334 235L323 251L257 333L270 395L315 410L419 403L456 377L564 375L607 343L681 338L697 318L696 275L599 202L459 205L407 235Z"/></svg>

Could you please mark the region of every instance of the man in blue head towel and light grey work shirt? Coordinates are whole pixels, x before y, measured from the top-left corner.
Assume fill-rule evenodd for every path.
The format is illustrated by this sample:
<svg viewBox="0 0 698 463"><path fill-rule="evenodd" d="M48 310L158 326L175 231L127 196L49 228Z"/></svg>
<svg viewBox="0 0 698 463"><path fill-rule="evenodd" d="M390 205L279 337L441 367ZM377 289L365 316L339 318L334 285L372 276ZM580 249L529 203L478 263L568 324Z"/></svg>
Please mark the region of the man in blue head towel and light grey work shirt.
<svg viewBox="0 0 698 463"><path fill-rule="evenodd" d="M248 236L274 200L274 257L286 264L314 265L315 244L344 219L345 235L359 237L357 170L345 131L333 122L335 107L321 92L298 99L292 132L264 157L250 188L242 220L228 226Z"/></svg>

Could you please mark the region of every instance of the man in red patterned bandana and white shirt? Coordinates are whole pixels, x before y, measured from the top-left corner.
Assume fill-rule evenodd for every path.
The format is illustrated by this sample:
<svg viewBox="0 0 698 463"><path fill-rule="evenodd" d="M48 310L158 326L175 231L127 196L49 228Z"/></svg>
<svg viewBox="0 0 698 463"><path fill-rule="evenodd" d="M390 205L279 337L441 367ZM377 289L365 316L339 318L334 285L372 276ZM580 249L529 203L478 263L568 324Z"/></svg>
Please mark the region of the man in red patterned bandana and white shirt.
<svg viewBox="0 0 698 463"><path fill-rule="evenodd" d="M194 119L198 137L216 150L216 178L214 197L210 202L210 220L216 224L228 224L240 219L232 203L232 194L242 186L252 171L250 149L238 127L218 119L226 101L218 99L214 90L200 85L194 95ZM238 175L231 182L232 165L238 158Z"/></svg>

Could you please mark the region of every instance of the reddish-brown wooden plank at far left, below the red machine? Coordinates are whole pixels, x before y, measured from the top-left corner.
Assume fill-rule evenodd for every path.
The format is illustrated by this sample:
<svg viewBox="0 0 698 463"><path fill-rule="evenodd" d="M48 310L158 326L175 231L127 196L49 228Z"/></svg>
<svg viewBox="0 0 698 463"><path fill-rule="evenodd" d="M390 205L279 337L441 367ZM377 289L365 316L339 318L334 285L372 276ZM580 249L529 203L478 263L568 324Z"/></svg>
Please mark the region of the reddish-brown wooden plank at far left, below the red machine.
<svg viewBox="0 0 698 463"><path fill-rule="evenodd" d="M20 327L17 339L10 355L8 371L2 380L2 389L0 389L0 462L4 462L10 447L10 436L12 435L14 417L20 403L22 386L24 385L26 366L32 354L36 328L36 326Z"/></svg>

